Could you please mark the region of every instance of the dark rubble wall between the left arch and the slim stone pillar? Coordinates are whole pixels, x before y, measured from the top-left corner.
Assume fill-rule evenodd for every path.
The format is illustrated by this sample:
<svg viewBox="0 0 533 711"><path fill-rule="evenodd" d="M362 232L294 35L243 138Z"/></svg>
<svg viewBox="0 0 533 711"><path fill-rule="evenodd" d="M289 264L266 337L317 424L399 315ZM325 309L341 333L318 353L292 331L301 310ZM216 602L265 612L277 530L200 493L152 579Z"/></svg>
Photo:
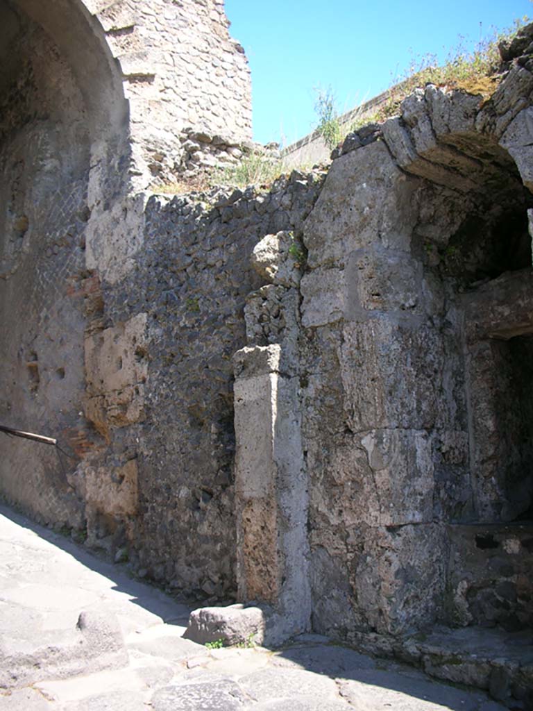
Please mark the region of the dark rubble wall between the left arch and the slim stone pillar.
<svg viewBox="0 0 533 711"><path fill-rule="evenodd" d="M236 593L231 359L261 284L252 250L270 232L301 230L319 184L294 173L264 193L152 196L144 249L102 284L90 318L85 415L101 437L72 479L90 541L113 555L129 547L135 570L181 592ZM125 466L137 496L121 510Z"/></svg>

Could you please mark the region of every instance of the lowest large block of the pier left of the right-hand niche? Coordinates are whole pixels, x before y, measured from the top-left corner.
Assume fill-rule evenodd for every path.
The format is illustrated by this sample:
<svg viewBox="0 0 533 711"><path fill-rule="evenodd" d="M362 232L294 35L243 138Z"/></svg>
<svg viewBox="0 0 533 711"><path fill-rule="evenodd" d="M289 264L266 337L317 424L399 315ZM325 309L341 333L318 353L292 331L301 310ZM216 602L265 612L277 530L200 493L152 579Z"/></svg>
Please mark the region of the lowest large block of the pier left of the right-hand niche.
<svg viewBox="0 0 533 711"><path fill-rule="evenodd" d="M443 614L446 532L434 523L361 527L350 540L352 586L367 624L405 634Z"/></svg>

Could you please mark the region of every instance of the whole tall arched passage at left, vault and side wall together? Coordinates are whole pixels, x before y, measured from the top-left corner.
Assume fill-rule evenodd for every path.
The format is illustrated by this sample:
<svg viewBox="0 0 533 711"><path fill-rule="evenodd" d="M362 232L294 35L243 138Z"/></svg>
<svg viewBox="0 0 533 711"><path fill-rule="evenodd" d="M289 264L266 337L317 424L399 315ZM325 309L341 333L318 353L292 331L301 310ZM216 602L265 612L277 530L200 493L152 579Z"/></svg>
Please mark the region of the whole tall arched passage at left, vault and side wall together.
<svg viewBox="0 0 533 711"><path fill-rule="evenodd" d="M93 443L87 226L126 185L127 102L80 0L0 0L0 28L0 421L59 437L73 457L9 439L0 486L38 518L81 525L68 476Z"/></svg>

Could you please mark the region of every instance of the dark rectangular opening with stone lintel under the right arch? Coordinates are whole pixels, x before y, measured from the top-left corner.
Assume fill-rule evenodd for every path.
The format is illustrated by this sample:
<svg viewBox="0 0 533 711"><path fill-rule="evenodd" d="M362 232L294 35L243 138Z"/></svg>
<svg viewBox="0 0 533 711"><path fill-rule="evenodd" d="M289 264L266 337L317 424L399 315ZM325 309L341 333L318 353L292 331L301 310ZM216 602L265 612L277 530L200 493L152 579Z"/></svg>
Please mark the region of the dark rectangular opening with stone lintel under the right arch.
<svg viewBox="0 0 533 711"><path fill-rule="evenodd" d="M531 502L524 466L529 410L522 399L530 379L530 279L530 269L503 274L461 298L473 415L470 466L485 521L512 520Z"/></svg>

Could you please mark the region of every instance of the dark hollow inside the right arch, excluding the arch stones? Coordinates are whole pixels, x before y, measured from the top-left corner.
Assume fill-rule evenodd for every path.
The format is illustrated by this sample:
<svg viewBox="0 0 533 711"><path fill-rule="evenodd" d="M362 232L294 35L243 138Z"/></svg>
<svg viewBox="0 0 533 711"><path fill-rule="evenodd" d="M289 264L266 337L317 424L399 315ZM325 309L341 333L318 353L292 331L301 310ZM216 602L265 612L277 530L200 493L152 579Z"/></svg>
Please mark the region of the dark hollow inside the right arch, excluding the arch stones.
<svg viewBox="0 0 533 711"><path fill-rule="evenodd" d="M533 518L533 196L500 146L461 149L480 169L457 196L440 268L464 316L475 518L522 522Z"/></svg>

